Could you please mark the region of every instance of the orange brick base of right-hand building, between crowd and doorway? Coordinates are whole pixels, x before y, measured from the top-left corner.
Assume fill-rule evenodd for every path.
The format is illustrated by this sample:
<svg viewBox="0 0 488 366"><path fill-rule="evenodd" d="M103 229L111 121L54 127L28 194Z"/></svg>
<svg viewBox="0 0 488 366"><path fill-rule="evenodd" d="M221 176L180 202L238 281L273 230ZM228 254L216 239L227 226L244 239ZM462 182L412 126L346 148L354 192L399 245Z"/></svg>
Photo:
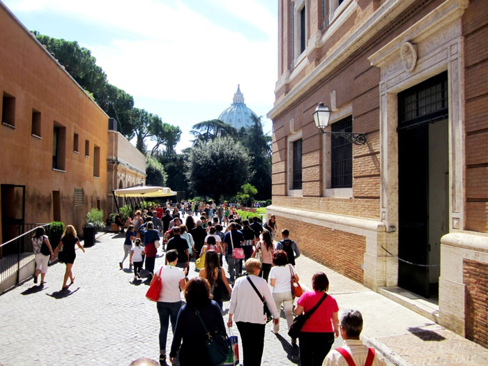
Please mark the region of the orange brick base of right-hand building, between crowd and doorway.
<svg viewBox="0 0 488 366"><path fill-rule="evenodd" d="M363 264L366 250L365 236L291 220L278 215L276 221L279 231L284 228L289 229L290 238L296 241L300 253L346 277L363 283L361 264ZM281 240L279 232L276 233L275 240Z"/></svg>

